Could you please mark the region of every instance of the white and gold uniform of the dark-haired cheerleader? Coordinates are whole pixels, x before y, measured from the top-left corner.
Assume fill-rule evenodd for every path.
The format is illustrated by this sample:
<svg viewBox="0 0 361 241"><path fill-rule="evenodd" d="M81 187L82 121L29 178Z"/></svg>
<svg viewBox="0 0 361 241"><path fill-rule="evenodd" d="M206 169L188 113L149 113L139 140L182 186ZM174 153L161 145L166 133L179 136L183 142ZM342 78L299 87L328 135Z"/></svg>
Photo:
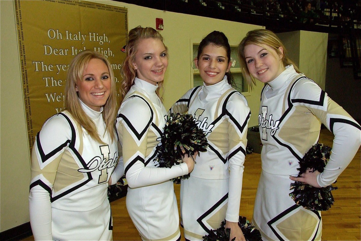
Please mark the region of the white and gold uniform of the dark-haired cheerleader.
<svg viewBox="0 0 361 241"><path fill-rule="evenodd" d="M203 240L226 219L238 222L247 124L247 100L227 83L189 90L171 108L192 114L209 144L191 176L181 182L181 217L187 240Z"/></svg>

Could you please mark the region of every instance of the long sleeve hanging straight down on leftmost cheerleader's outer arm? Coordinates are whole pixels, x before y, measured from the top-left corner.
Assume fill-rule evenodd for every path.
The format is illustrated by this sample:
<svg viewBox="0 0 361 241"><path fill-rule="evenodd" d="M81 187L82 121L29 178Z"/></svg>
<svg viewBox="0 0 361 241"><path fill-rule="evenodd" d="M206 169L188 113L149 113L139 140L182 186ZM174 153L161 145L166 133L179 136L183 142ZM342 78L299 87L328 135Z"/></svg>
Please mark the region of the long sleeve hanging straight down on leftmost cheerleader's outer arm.
<svg viewBox="0 0 361 241"><path fill-rule="evenodd" d="M45 122L36 135L29 193L30 223L35 240L53 240L50 194L69 136L69 125L61 116L53 116Z"/></svg>

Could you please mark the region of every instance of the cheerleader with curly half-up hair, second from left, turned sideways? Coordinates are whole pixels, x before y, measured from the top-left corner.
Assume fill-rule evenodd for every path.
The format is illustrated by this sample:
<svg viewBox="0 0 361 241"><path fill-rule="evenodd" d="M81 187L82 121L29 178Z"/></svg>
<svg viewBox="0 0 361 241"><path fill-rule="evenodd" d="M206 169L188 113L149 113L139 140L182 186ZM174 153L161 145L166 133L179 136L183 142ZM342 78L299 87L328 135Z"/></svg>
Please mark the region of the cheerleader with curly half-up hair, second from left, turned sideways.
<svg viewBox="0 0 361 241"><path fill-rule="evenodd" d="M168 50L155 29L136 27L129 32L125 51L116 127L129 185L127 210L142 240L180 240L177 200L169 180L191 172L196 154L172 168L158 168L155 160L167 115L159 90Z"/></svg>

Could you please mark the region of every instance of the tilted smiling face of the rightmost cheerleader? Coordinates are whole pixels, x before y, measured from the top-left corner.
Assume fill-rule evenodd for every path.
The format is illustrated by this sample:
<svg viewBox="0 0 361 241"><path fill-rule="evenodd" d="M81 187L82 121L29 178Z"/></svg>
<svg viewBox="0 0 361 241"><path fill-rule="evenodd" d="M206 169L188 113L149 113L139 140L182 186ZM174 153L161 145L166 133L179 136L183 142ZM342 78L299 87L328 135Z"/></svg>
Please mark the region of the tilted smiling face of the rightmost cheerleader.
<svg viewBox="0 0 361 241"><path fill-rule="evenodd" d="M266 48L267 47L267 48ZM262 83L273 81L286 68L282 63L282 47L280 55L270 46L249 44L244 47L244 57L249 73Z"/></svg>

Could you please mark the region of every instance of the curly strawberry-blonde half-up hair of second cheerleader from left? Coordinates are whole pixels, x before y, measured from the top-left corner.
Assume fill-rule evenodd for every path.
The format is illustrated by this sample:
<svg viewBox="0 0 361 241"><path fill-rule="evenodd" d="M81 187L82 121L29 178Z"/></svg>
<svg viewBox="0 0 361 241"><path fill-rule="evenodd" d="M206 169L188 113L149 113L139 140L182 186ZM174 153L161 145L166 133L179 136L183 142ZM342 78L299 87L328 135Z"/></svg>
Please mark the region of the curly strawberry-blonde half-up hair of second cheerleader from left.
<svg viewBox="0 0 361 241"><path fill-rule="evenodd" d="M159 39L163 43L163 37L157 30L153 29L152 27L135 27L129 31L129 39L128 43L125 47L126 57L123 61L122 68L121 68L121 75L123 77L123 81L121 84L121 102L124 99L124 96L129 91L130 87L134 85L134 78L136 77L136 70L134 69L133 63L135 61L135 53L137 51L137 44L140 40L143 39ZM168 53L168 48L163 43L166 52ZM168 57L168 54L167 54ZM158 82L158 88L156 90L156 94L160 96L160 90L162 89L163 81Z"/></svg>

